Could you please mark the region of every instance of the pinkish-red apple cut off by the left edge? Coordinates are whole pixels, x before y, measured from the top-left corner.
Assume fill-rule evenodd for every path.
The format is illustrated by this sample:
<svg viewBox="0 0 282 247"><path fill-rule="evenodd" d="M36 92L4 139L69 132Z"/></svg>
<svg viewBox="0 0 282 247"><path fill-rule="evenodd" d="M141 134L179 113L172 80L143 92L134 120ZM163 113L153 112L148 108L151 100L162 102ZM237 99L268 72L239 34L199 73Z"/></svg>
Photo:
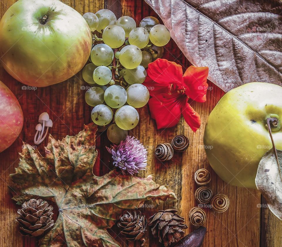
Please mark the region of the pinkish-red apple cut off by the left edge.
<svg viewBox="0 0 282 247"><path fill-rule="evenodd" d="M16 96L0 81L0 152L21 133L24 116Z"/></svg>

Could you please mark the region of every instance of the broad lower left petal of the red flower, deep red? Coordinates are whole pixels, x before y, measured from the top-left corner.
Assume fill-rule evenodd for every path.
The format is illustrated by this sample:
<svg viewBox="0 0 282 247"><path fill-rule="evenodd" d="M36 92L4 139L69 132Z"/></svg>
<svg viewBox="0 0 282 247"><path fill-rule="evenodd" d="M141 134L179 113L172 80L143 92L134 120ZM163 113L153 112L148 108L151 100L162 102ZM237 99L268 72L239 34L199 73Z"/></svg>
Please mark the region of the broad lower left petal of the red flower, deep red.
<svg viewBox="0 0 282 247"><path fill-rule="evenodd" d="M177 125L181 117L181 108L184 101L179 94L169 95L162 93L149 100L151 117L156 120L157 128L169 128Z"/></svg>

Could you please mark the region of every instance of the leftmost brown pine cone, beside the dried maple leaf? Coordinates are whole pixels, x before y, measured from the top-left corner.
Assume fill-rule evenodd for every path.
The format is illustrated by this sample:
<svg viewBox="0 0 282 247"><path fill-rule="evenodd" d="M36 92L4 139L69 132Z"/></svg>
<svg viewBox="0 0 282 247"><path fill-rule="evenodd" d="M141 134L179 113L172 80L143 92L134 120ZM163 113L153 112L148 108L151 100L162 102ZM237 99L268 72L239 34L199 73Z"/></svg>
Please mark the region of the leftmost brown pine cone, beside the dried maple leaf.
<svg viewBox="0 0 282 247"><path fill-rule="evenodd" d="M24 202L22 209L18 210L20 215L16 221L21 225L20 233L23 236L40 236L54 225L53 207L48 207L48 202L41 199L31 199Z"/></svg>

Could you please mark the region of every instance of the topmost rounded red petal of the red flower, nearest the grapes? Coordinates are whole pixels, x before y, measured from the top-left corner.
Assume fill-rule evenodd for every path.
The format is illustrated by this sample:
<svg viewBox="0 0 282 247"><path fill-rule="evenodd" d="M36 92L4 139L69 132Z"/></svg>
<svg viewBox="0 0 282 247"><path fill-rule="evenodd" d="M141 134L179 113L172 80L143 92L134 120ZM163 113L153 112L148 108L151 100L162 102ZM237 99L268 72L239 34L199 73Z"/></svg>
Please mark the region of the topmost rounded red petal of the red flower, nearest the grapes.
<svg viewBox="0 0 282 247"><path fill-rule="evenodd" d="M166 59L158 58L156 61L149 63L147 74L152 80L163 86L182 83L183 72L181 65Z"/></svg>

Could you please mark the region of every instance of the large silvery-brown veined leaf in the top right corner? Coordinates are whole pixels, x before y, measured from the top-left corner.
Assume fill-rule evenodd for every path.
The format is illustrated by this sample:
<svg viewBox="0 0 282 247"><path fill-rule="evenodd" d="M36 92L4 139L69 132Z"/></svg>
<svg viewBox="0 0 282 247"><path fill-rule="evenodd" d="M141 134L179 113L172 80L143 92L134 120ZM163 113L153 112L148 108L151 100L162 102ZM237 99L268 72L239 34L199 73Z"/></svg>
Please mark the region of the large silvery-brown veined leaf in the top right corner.
<svg viewBox="0 0 282 247"><path fill-rule="evenodd" d="M282 4L266 0L145 0L188 60L229 91L282 83Z"/></svg>

